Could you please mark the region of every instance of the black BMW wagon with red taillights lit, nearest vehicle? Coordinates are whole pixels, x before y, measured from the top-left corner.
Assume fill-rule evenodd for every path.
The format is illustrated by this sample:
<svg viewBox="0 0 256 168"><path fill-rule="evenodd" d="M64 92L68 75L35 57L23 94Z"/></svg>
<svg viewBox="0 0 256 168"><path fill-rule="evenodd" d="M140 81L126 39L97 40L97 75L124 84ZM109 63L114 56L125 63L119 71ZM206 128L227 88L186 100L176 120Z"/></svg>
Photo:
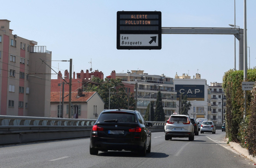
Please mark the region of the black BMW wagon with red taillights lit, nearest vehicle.
<svg viewBox="0 0 256 168"><path fill-rule="evenodd" d="M137 110L103 110L90 135L90 154L99 151L135 151L145 156L151 152L152 123L146 123Z"/></svg>

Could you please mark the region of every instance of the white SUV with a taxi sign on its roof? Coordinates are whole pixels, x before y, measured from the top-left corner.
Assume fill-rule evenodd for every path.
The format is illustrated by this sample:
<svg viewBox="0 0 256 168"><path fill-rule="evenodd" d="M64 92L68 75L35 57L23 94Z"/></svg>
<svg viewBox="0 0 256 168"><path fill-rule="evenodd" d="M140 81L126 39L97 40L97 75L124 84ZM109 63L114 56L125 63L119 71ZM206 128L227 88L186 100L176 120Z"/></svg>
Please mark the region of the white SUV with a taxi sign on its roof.
<svg viewBox="0 0 256 168"><path fill-rule="evenodd" d="M165 140L176 138L188 138L194 140L194 125L188 115L171 115L165 125Z"/></svg>

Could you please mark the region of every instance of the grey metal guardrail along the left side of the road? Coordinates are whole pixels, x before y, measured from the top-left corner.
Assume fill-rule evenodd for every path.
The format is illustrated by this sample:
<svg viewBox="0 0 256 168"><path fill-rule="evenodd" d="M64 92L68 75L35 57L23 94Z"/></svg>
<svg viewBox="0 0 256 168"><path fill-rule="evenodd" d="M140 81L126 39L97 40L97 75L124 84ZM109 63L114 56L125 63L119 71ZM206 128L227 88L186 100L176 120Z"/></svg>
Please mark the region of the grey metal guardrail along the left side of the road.
<svg viewBox="0 0 256 168"><path fill-rule="evenodd" d="M0 144L89 137L95 121L0 115ZM151 132L164 131L165 122L150 122L153 124Z"/></svg>

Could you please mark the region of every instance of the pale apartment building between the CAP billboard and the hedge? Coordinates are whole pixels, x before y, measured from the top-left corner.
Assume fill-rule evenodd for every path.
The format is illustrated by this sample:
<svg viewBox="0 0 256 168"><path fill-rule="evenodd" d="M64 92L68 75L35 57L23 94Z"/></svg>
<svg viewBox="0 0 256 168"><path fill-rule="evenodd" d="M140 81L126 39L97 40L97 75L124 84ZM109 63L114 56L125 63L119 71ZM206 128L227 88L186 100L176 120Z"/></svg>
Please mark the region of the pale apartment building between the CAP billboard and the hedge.
<svg viewBox="0 0 256 168"><path fill-rule="evenodd" d="M210 120L214 123L224 123L226 115L226 95L222 89L222 83L210 83L211 92L210 102Z"/></svg>

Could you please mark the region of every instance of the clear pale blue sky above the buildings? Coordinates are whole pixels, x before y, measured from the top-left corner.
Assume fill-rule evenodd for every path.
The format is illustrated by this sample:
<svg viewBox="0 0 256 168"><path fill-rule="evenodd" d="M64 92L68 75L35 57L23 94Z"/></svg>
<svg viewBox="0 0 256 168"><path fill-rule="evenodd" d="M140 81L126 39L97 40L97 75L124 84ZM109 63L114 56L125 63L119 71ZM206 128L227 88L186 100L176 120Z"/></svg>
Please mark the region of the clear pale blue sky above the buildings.
<svg viewBox="0 0 256 168"><path fill-rule="evenodd" d="M256 1L247 0L247 46L250 67L256 65ZM236 25L243 29L244 1L236 0ZM52 60L72 59L72 72L92 67L104 77L115 70L144 70L167 77L196 73L210 82L222 82L234 68L233 35L162 35L161 50L117 50L117 11L161 11L162 27L230 27L234 24L234 0L140 1L3 1L1 19L10 20L13 34L38 42L52 51ZM236 40L238 69L238 40ZM92 62L90 64L89 62ZM249 67L249 49L248 49ZM64 73L69 62L52 61ZM56 79L57 75L52 75Z"/></svg>

